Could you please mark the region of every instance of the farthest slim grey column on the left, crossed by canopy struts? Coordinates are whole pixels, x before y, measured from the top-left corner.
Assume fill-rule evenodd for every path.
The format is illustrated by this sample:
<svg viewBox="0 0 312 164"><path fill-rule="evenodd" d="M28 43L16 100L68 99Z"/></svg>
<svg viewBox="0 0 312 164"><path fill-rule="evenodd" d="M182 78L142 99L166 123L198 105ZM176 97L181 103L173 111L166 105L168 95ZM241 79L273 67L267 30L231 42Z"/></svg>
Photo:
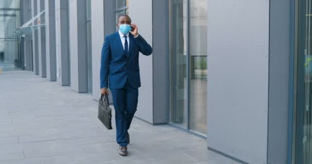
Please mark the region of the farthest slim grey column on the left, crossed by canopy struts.
<svg viewBox="0 0 312 164"><path fill-rule="evenodd" d="M31 17L37 15L37 0L31 0ZM34 21L32 26L37 25L37 22ZM32 54L33 54L33 72L34 74L39 74L39 59L38 59L38 31L32 30Z"/></svg>

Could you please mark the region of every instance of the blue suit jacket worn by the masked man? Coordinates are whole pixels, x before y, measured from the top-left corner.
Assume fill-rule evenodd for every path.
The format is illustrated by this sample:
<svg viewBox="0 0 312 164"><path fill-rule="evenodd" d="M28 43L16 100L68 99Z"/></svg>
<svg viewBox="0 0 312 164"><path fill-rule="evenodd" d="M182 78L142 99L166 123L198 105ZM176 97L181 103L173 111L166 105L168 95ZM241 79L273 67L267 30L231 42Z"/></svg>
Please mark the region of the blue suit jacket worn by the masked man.
<svg viewBox="0 0 312 164"><path fill-rule="evenodd" d="M143 55L152 53L151 46L141 35L134 38L129 33L128 54L124 51L118 31L106 36L101 56L100 87L108 88L108 76L110 89L123 88L127 78L132 88L141 87L139 52Z"/></svg>

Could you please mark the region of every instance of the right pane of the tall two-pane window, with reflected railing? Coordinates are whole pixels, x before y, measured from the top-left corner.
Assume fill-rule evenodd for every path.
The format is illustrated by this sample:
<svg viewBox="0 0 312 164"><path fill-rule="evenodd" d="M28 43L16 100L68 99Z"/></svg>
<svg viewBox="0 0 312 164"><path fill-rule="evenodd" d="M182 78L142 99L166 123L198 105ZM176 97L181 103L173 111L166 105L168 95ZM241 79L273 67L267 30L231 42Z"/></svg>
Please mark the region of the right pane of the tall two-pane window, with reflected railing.
<svg viewBox="0 0 312 164"><path fill-rule="evenodd" d="M207 1L190 1L190 129L207 133Z"/></svg>

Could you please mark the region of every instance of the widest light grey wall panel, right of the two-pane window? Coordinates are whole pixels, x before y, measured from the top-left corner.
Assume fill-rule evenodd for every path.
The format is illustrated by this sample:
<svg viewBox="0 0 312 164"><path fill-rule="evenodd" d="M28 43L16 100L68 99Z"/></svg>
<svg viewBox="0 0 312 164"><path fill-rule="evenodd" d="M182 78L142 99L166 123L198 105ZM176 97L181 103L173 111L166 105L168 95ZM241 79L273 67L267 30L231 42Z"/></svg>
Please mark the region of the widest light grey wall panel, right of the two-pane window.
<svg viewBox="0 0 312 164"><path fill-rule="evenodd" d="M208 1L208 147L267 163L269 1Z"/></svg>

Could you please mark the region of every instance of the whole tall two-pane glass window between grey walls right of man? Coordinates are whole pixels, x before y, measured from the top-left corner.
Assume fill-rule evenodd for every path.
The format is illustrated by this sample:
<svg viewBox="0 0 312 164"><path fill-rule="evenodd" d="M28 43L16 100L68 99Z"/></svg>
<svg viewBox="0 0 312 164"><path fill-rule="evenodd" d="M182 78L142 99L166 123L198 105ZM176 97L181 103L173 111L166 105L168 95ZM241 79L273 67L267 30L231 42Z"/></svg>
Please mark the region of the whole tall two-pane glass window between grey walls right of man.
<svg viewBox="0 0 312 164"><path fill-rule="evenodd" d="M207 133L207 1L169 4L170 122Z"/></svg>

